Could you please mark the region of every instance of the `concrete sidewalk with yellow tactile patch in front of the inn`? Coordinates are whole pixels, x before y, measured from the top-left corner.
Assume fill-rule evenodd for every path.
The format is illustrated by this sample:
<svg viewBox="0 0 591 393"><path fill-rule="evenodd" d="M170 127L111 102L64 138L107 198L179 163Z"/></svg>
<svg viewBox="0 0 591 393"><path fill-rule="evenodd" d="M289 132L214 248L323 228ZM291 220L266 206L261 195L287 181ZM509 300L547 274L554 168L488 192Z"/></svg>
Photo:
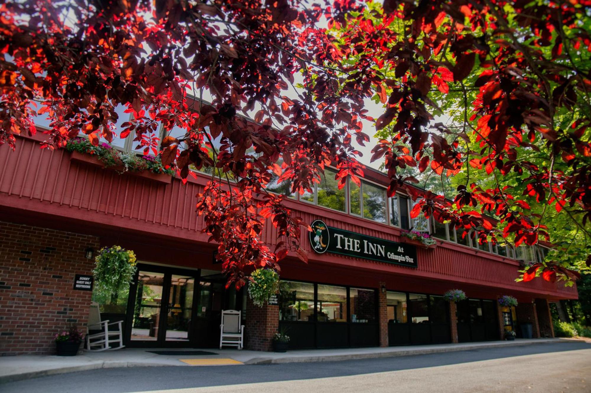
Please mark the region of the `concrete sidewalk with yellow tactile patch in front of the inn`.
<svg viewBox="0 0 591 393"><path fill-rule="evenodd" d="M236 349L204 349L215 355L157 355L149 351L164 349L120 349L112 352L87 352L77 356L21 355L0 358L0 383L20 381L38 376L85 371L98 368L145 366L240 365L290 362L329 362L348 359L385 358L388 356L422 355L482 348L557 343L575 339L516 339L461 344L394 346L388 348L310 349L285 353L238 351ZM168 349L168 351L199 351Z"/></svg>

